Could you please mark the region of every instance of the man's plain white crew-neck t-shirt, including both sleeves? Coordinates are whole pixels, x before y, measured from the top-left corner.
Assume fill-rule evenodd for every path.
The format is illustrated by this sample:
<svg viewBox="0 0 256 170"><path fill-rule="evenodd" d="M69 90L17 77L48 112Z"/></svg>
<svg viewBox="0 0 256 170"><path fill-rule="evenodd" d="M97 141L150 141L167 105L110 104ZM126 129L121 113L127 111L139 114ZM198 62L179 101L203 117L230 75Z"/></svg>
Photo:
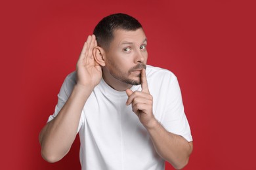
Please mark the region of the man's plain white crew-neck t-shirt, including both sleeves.
<svg viewBox="0 0 256 170"><path fill-rule="evenodd" d="M75 85L75 73L68 75L58 94L58 104L48 121L58 114ZM177 77L166 69L147 65L148 88L153 96L153 113L171 133L192 141L184 114ZM131 90L141 90L133 86ZM131 105L127 94L108 86L102 79L87 99L79 122L80 162L83 170L163 170L165 161L154 146Z"/></svg>

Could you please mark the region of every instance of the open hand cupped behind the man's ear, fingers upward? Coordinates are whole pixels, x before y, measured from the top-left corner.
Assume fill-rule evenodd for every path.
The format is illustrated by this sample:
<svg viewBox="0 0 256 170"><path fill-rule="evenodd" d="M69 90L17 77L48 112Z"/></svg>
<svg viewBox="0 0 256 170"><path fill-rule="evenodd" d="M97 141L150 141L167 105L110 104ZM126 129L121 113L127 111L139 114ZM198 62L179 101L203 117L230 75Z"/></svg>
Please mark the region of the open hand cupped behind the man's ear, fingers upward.
<svg viewBox="0 0 256 170"><path fill-rule="evenodd" d="M100 65L93 57L93 48L97 46L95 35L89 35L77 61L77 84L86 88L95 88L102 78Z"/></svg>

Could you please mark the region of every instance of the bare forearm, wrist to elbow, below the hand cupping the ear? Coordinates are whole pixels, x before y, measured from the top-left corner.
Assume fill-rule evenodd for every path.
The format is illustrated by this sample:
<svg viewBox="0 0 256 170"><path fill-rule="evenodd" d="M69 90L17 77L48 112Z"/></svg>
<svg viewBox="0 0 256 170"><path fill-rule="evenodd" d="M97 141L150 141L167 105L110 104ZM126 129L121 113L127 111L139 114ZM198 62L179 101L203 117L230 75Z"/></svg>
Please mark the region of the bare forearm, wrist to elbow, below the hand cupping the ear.
<svg viewBox="0 0 256 170"><path fill-rule="evenodd" d="M77 135L81 112L91 92L92 88L76 84L56 118L42 129L39 142L45 160L55 162L68 153Z"/></svg>

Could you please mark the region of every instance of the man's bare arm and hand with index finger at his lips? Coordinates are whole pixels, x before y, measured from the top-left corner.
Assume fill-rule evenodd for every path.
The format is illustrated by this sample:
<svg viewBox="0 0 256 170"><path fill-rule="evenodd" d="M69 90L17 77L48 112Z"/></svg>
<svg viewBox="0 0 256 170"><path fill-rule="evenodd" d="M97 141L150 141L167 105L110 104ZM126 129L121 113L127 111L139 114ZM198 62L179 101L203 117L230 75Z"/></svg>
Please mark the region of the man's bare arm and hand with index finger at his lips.
<svg viewBox="0 0 256 170"><path fill-rule="evenodd" d="M180 135L167 131L154 117L152 112L153 97L148 90L145 69L141 72L141 92L126 90L128 95L127 105L132 105L133 112L137 114L140 122L150 134L156 152L175 169L182 169L187 163L192 152L192 142L188 143Z"/></svg>

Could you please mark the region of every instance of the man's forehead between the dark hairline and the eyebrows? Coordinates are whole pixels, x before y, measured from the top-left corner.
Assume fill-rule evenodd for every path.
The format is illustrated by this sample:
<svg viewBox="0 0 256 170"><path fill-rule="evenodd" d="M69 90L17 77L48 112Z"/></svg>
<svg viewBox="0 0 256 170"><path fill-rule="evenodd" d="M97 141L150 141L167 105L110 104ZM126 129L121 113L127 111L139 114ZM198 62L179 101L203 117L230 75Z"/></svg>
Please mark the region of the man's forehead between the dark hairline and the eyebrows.
<svg viewBox="0 0 256 170"><path fill-rule="evenodd" d="M113 44L120 45L122 42L130 42L133 44L140 44L146 40L146 35L142 28L135 31L127 31L124 29L114 30Z"/></svg>

